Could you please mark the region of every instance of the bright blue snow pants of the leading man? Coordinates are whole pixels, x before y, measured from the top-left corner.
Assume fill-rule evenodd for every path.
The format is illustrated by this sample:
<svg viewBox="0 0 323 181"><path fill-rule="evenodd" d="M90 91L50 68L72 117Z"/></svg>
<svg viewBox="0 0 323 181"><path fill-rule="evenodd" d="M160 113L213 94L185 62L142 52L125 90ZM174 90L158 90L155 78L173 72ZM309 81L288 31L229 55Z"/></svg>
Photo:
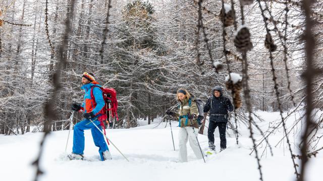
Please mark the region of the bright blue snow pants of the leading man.
<svg viewBox="0 0 323 181"><path fill-rule="evenodd" d="M91 120L95 120L95 118L92 118ZM93 123L102 131L102 128L100 126L100 121L95 120ZM90 120L84 119L81 122L77 123L74 126L74 134L73 134L73 153L75 154L83 154L84 151L84 130L91 129L92 137L95 146L99 147L99 154L101 157L101 160L103 161L103 155L102 152L105 150L109 150L107 147L104 137L102 133L97 130L97 128L91 123Z"/></svg>

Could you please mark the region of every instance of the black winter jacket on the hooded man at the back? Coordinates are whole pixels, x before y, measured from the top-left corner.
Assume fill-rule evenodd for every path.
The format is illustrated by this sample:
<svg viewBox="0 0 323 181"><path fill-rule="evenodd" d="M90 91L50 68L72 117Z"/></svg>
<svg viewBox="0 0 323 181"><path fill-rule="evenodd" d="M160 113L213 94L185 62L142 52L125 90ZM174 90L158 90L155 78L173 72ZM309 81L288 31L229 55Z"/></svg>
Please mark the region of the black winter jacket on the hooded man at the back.
<svg viewBox="0 0 323 181"><path fill-rule="evenodd" d="M212 106L211 106L212 102ZM210 111L209 117L210 121L214 122L227 122L228 121L228 116L215 116L212 114L226 114L228 115L228 111L232 112L233 111L233 105L231 104L231 101L229 98L221 96L219 98L212 96L207 100L207 103L205 104L203 108L203 112L206 113Z"/></svg>

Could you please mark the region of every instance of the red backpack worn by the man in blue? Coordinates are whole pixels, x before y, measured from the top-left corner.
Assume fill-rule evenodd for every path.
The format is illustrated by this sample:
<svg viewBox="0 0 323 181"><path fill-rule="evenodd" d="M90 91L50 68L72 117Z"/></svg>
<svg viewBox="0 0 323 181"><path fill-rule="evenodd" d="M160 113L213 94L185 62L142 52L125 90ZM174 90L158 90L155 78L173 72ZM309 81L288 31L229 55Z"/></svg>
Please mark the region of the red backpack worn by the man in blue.
<svg viewBox="0 0 323 181"><path fill-rule="evenodd" d="M93 96L93 88L95 86L91 87L91 100L94 103L94 106L96 106L95 98ZM96 86L99 87L99 86ZM118 101L117 101L117 91L114 88L107 88L107 87L99 87L103 94L103 100L104 100L104 107L101 109L101 111L98 112L98 114L101 114L101 116L98 118L99 121L103 123L105 121L106 123L109 123L112 121L112 118L117 118L117 121L119 121L118 118ZM107 115L109 115L109 118L107 118Z"/></svg>

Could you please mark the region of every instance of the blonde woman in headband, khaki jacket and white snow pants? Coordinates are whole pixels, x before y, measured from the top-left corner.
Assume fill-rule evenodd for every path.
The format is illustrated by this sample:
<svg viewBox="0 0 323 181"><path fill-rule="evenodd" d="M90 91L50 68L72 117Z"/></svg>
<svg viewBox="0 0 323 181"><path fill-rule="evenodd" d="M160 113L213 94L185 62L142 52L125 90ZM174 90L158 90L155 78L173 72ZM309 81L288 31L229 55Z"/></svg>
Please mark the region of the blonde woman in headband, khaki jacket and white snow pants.
<svg viewBox="0 0 323 181"><path fill-rule="evenodd" d="M196 121L198 110L195 99L191 97L186 89L180 88L177 91L177 100L180 103L178 114L170 111L166 112L166 114L179 118L179 161L187 162L187 140L189 140L197 159L201 159L203 156L196 139L198 133L198 123Z"/></svg>

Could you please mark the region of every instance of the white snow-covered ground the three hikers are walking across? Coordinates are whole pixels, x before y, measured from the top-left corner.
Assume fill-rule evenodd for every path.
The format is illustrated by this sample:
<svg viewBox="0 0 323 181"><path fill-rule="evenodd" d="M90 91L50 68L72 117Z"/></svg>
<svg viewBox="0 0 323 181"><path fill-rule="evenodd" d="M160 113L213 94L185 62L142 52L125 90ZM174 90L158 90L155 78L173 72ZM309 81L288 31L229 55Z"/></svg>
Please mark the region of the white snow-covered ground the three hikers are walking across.
<svg viewBox="0 0 323 181"><path fill-rule="evenodd" d="M269 122L279 119L278 113L258 112L265 120L259 125L266 130ZM295 119L295 118L292 118ZM133 129L107 129L107 136L127 156L122 155L110 145L113 160L99 161L97 147L94 146L90 131L85 131L85 160L68 160L66 154L72 150L72 134L65 153L68 131L52 132L47 137L41 158L44 174L41 180L259 180L259 171L254 154L250 154L252 142L249 131L240 129L239 145L236 138L227 136L228 148L218 154L196 160L188 145L189 162L178 163L178 122L172 122L176 151L173 149L169 124L158 121ZM156 128L155 128L156 127ZM244 127L241 125L241 127ZM205 128L206 129L206 128ZM216 146L219 151L220 138L216 133ZM35 160L42 133L27 133L18 136L0 135L0 178L1 180L33 180ZM260 136L255 135L257 138ZM264 152L261 158L264 180L295 180L294 168L288 148L285 144L275 145L282 134L270 136L274 156L270 151ZM207 149L207 136L198 135L201 147ZM260 150L260 154L262 149ZM322 180L320 170L323 167L323 156L309 160L307 180Z"/></svg>

